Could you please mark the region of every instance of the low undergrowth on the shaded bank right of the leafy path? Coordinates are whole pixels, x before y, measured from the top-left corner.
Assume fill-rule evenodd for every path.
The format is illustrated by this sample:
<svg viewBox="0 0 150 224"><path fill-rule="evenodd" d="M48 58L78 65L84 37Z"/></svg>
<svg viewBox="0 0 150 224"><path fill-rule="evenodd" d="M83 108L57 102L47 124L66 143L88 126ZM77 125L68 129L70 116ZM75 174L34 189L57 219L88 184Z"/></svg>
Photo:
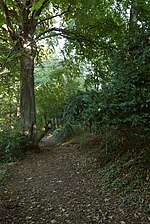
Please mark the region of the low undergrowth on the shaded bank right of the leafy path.
<svg viewBox="0 0 150 224"><path fill-rule="evenodd" d="M106 147L107 146L107 147ZM98 163L102 183L111 191L122 193L124 203L150 205L150 143L146 139L115 139L100 148Z"/></svg>

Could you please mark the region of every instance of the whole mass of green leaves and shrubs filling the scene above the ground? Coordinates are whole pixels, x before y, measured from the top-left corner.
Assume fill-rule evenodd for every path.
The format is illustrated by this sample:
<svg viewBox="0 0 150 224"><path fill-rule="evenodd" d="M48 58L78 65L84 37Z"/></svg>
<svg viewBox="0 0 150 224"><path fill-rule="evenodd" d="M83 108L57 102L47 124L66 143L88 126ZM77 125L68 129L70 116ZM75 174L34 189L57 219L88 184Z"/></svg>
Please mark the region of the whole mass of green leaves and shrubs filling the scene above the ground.
<svg viewBox="0 0 150 224"><path fill-rule="evenodd" d="M9 72L19 67L16 63L22 55L18 49L19 41L23 40L24 15L30 25L34 25L35 30L27 27L27 31L33 31L36 43L46 38L52 49L58 45L59 35L68 39L63 62L47 58L48 68L35 69L38 127L47 130L56 120L51 126L59 126L58 118L63 110L61 123L64 124L84 126L96 133L115 126L129 135L148 136L150 40L147 1L137 1L139 23L134 35L129 35L128 9L132 1L75 0L70 3L68 0L40 0L25 5L28 3L6 1L11 23L7 24L9 29L0 3L1 67L8 68ZM22 8L26 9L24 14L20 13ZM45 49L40 48L39 55L37 50L37 58L45 56ZM70 58L66 57L67 53ZM18 80L18 74L1 79L0 122L7 127L13 126L19 114L16 78ZM87 91L78 91L83 80L86 80Z"/></svg>

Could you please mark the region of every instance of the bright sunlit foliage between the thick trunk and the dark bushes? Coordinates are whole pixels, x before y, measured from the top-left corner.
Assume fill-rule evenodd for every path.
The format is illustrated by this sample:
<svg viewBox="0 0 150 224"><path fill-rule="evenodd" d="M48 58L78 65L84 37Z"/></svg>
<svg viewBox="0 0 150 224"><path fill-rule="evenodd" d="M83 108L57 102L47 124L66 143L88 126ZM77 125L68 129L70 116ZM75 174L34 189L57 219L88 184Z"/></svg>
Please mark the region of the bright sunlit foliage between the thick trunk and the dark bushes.
<svg viewBox="0 0 150 224"><path fill-rule="evenodd" d="M38 127L45 128L45 131L58 128L64 101L78 88L73 69L51 57L44 61L43 67L36 69L35 81Z"/></svg>

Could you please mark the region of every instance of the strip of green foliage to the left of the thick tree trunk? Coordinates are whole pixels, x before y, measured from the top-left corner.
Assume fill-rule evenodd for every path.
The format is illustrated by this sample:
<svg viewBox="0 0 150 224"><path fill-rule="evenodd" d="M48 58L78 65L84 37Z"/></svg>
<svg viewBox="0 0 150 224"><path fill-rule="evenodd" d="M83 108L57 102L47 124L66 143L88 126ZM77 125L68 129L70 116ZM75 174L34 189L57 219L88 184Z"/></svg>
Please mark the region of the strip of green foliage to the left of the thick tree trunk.
<svg viewBox="0 0 150 224"><path fill-rule="evenodd" d="M19 75L13 50L0 42L0 161L21 157L19 120Z"/></svg>

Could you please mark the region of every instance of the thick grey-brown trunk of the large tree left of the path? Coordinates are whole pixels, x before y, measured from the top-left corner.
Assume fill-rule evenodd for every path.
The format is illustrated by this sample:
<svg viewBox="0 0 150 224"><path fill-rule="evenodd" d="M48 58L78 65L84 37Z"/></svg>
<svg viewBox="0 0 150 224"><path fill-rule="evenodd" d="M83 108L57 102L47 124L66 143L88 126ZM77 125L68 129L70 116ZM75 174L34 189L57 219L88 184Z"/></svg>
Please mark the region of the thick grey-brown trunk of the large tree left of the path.
<svg viewBox="0 0 150 224"><path fill-rule="evenodd" d="M27 42L26 42L27 43ZM36 144L36 112L34 95L34 58L32 44L22 48L20 59L20 119L22 134L31 145Z"/></svg>

